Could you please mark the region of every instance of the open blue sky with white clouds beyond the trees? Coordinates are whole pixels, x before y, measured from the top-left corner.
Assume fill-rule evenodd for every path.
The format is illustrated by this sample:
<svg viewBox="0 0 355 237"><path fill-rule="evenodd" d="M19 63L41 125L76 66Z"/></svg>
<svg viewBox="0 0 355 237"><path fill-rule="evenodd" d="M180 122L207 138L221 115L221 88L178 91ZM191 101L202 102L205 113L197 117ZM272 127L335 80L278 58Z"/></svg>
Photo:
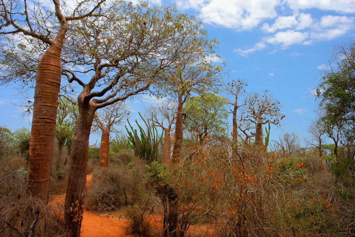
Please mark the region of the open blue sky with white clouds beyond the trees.
<svg viewBox="0 0 355 237"><path fill-rule="evenodd" d="M179 11L199 15L211 38L220 41L217 53L225 61L229 79L248 82L247 92L270 90L283 104L283 126L271 130L272 139L294 131L307 136L315 118L311 95L321 70L325 69L334 45L348 42L355 34L354 0L176 0L149 1L149 4L176 5ZM28 92L33 98L33 92ZM31 118L22 117L23 95L12 86L0 87L0 125L11 130L31 127ZM131 120L149 102L134 100ZM90 144L99 141L93 134Z"/></svg>

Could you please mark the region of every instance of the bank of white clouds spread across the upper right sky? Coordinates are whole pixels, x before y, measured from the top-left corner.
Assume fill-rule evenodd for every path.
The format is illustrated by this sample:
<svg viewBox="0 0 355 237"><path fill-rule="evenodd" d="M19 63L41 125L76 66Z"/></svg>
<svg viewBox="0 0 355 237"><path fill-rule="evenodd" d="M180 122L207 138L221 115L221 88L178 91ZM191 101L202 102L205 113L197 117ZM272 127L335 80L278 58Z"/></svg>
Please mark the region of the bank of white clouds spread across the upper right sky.
<svg viewBox="0 0 355 237"><path fill-rule="evenodd" d="M199 14L210 25L236 31L259 28L264 34L259 42L251 48L234 49L242 56L268 45L285 49L293 44L330 40L355 28L354 0L175 0L175 3L179 9ZM313 9L317 14L310 14Z"/></svg>

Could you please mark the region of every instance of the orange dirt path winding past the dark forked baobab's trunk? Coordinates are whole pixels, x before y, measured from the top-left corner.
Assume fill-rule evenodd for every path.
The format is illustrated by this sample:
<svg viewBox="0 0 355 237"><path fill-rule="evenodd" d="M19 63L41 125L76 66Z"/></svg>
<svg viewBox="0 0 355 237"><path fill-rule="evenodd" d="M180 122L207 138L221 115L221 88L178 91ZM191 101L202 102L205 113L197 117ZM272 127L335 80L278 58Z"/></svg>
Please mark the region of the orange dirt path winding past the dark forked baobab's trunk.
<svg viewBox="0 0 355 237"><path fill-rule="evenodd" d="M87 185L89 186L92 174L87 175ZM54 195L50 205L58 210L58 214L63 217L60 210L64 204L64 195ZM57 207L57 208L56 208ZM109 214L98 214L85 210L81 225L81 237L133 237L127 234L128 222L120 212L110 212Z"/></svg>

